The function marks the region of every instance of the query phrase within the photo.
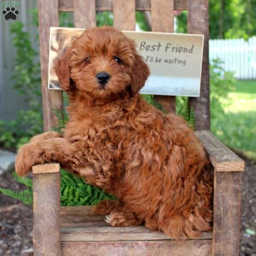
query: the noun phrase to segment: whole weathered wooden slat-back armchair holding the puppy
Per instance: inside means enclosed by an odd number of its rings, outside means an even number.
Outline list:
[[[151,11],[152,31],[173,32],[174,10],[187,10],[188,32],[204,34],[204,60],[199,98],[190,98],[197,135],[214,166],[213,232],[199,239],[175,241],[144,226],[110,227],[90,207],[60,207],[60,169],[52,163],[33,166],[35,255],[97,256],[236,256],[239,254],[241,171],[244,162],[209,131],[209,55],[207,0],[38,0],[44,130],[63,108],[62,92],[48,90],[49,27],[58,26],[58,12],[74,12],[75,26],[96,26],[96,11],[113,11],[114,26],[135,30],[135,10]],[[167,112],[174,96],[157,96]]]

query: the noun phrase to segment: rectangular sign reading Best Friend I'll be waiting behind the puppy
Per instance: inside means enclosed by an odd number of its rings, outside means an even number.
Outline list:
[[[60,89],[53,69],[54,58],[81,35],[84,29],[50,29],[49,89]],[[143,94],[192,96],[200,94],[203,35],[155,32],[123,33],[134,39],[137,51],[150,67],[151,75],[140,90]]]

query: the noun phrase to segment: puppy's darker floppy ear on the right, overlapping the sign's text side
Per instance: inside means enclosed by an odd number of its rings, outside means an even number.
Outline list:
[[[136,94],[144,86],[145,81],[150,75],[149,67],[143,57],[135,53],[134,64],[131,74],[131,92]]]

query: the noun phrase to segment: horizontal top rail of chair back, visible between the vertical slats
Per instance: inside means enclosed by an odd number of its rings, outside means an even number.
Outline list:
[[[150,0],[136,0],[135,8],[137,11],[150,11]],[[60,12],[73,12],[74,2],[73,0],[58,0],[58,6]],[[186,10],[186,0],[174,0],[175,11]],[[113,11],[113,0],[96,0],[96,11],[105,12]]]

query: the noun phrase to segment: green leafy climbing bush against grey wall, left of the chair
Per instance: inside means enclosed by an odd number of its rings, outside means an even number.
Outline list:
[[[12,80],[14,88],[26,96],[29,110],[20,110],[17,118],[4,122],[0,120],[0,143],[6,148],[18,148],[29,138],[43,132],[41,101],[41,71],[37,60],[38,52],[32,48],[28,32],[23,31],[19,21],[12,23],[13,46],[16,49]]]

